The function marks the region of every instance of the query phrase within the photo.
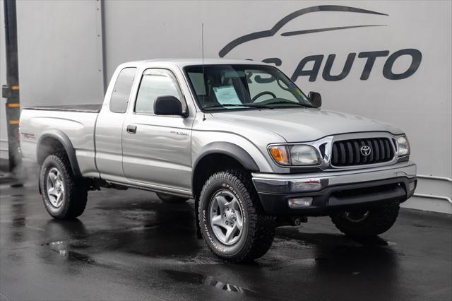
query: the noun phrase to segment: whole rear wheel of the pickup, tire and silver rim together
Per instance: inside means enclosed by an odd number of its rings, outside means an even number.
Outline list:
[[[67,220],[85,210],[88,189],[72,173],[66,153],[49,155],[40,170],[42,201],[54,218]]]

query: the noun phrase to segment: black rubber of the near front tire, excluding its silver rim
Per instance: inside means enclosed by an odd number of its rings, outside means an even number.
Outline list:
[[[222,189],[228,189],[234,194],[244,213],[244,232],[232,245],[220,242],[210,225],[210,202]],[[263,256],[270,249],[275,237],[274,218],[263,212],[251,176],[239,170],[217,172],[208,178],[199,196],[198,220],[208,248],[216,256],[230,262],[252,261]]]

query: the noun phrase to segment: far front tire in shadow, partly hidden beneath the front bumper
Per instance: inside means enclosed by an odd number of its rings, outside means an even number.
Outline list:
[[[399,208],[399,202],[393,201],[369,209],[368,216],[359,222],[345,218],[345,211],[331,215],[331,220],[345,235],[357,238],[373,237],[388,231],[396,223]]]

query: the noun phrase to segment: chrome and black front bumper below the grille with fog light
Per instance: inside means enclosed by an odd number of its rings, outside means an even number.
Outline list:
[[[252,176],[264,210],[274,216],[322,216],[338,208],[402,202],[417,184],[416,165],[410,161],[361,170]],[[289,206],[290,199],[300,198],[311,198],[311,205]]]

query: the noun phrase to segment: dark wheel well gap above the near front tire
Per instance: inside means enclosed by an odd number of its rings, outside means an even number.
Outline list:
[[[199,160],[193,172],[193,196],[199,196],[207,179],[221,170],[246,170],[246,168],[230,155],[212,153]]]

